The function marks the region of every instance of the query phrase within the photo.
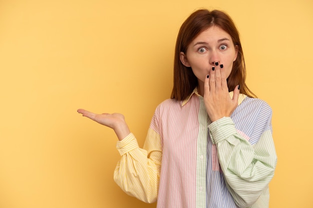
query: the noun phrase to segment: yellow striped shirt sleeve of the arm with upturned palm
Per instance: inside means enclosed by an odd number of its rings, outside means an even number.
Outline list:
[[[159,134],[149,128],[143,148],[139,148],[130,133],[117,141],[116,148],[121,159],[114,170],[114,181],[128,195],[146,203],[155,202],[162,157]]]

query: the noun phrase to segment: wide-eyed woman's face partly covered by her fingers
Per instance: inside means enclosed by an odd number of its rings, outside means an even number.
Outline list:
[[[221,70],[228,77],[236,57],[237,48],[231,36],[218,26],[211,26],[199,33],[188,45],[186,53],[180,52],[180,61],[191,67],[200,86],[204,85],[204,79],[215,62],[223,64]]]

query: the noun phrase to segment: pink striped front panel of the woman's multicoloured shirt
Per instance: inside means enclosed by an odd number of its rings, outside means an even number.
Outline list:
[[[163,148],[157,207],[195,207],[198,109],[194,95],[183,107],[168,99],[155,111],[150,127]]]

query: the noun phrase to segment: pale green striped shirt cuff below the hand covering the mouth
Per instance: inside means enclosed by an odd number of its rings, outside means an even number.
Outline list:
[[[222,117],[210,123],[208,129],[213,144],[216,144],[237,132],[230,117]]]

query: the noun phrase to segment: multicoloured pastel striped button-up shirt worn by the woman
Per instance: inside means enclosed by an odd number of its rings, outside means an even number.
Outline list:
[[[163,101],[143,148],[132,133],[117,142],[115,182],[158,208],[268,207],[271,108],[243,94],[238,103],[230,117],[211,122],[196,89],[184,101]]]

